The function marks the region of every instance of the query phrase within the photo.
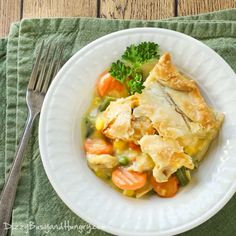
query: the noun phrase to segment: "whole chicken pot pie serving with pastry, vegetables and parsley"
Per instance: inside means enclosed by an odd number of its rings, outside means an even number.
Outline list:
[[[97,82],[85,118],[89,167],[124,195],[173,197],[223,122],[153,42],[131,45]]]

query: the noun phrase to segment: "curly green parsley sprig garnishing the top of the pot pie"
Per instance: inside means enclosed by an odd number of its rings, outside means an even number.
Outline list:
[[[121,60],[112,63],[109,73],[125,84],[130,94],[141,93],[144,88],[142,65],[159,57],[159,45],[154,42],[132,44],[126,48]]]

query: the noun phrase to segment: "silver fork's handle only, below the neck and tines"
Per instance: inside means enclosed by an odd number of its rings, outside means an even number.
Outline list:
[[[13,160],[9,175],[0,196],[0,235],[7,235],[8,224],[10,224],[12,208],[15,201],[16,189],[20,179],[20,170],[26,145],[28,143],[33,122],[37,114],[28,114],[23,136],[20,140],[15,158]]]

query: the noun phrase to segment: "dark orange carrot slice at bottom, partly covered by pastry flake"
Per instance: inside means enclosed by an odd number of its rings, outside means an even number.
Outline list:
[[[158,183],[156,179],[151,177],[151,184],[153,189],[160,197],[174,197],[179,186],[176,176],[171,176],[167,182]]]

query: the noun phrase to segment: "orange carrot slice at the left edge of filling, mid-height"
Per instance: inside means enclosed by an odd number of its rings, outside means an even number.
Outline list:
[[[103,139],[86,139],[85,151],[90,154],[112,154],[113,147]]]

